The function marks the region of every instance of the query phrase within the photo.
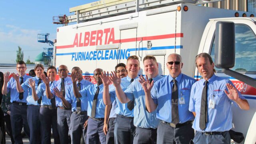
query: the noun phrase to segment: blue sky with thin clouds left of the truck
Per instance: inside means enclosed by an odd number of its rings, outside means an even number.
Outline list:
[[[0,0],[0,63],[16,63],[18,46],[24,52],[23,60],[26,62],[29,58],[34,62],[43,48],[53,48],[37,42],[37,34],[50,33],[48,39],[56,39],[56,30],[62,24],[53,24],[53,16],[73,15],[74,12],[70,13],[69,8],[96,1]]]

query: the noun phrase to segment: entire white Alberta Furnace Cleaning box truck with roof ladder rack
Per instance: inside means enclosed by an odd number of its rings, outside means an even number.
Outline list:
[[[144,74],[142,59],[153,55],[165,76],[167,56],[177,53],[184,63],[182,73],[199,80],[195,56],[206,52],[214,58],[216,22],[228,21],[235,24],[236,59],[231,69],[255,79],[255,14],[195,5],[214,1],[218,0],[101,0],[70,8],[74,15],[55,21],[65,25],[57,28],[55,66],[65,64],[69,70],[79,66],[86,80],[94,82],[94,69],[112,71],[132,55],[140,58],[139,74]],[[76,23],[67,25],[71,22]],[[216,74],[230,79],[248,100],[248,111],[232,107],[233,126],[244,134],[243,143],[255,144],[255,87],[220,69]]]

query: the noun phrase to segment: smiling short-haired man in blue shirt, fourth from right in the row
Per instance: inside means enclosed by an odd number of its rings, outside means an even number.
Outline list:
[[[124,91],[126,88],[138,78],[138,72],[140,70],[140,61],[137,56],[129,56],[127,58],[126,70],[128,76],[120,80],[118,84],[121,89]],[[112,73],[114,74],[114,73]],[[114,128],[114,141],[115,144],[133,144],[134,130],[135,126],[133,124],[134,120],[134,101],[130,101],[126,104],[122,104],[116,97],[115,86],[110,85],[110,79],[108,76],[105,77],[106,82],[104,82],[104,97],[106,98],[106,105],[110,105],[111,102],[116,99],[116,119],[115,119],[115,128]],[[104,78],[104,79],[105,79]],[[110,77],[111,78],[111,77]],[[110,98],[112,100],[110,100]]]

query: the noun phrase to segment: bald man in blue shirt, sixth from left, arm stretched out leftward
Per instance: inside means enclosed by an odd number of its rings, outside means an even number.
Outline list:
[[[106,143],[106,135],[103,132],[105,104],[102,99],[103,84],[100,78],[102,72],[101,68],[94,70],[93,77],[96,84],[89,85],[80,91],[76,86],[73,86],[76,98],[88,98],[87,114],[90,118],[87,125],[86,144]]]

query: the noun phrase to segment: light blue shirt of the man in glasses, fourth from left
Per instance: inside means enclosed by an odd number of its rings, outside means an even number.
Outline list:
[[[64,78],[64,84],[65,84],[65,97],[66,97],[66,93],[67,93],[67,90],[68,90],[68,86],[69,86],[69,85],[72,85],[72,80],[71,80],[71,78],[68,77],[68,76],[67,76],[66,78]],[[51,85],[51,87],[50,87],[50,91],[51,91],[52,94],[54,94],[53,89],[54,89],[55,87],[57,87],[58,90],[61,90],[61,78],[60,78],[59,80],[54,81],[54,82],[52,83],[52,85]],[[63,106],[61,99],[58,98],[58,96],[55,96],[55,98],[56,98],[56,106]]]

